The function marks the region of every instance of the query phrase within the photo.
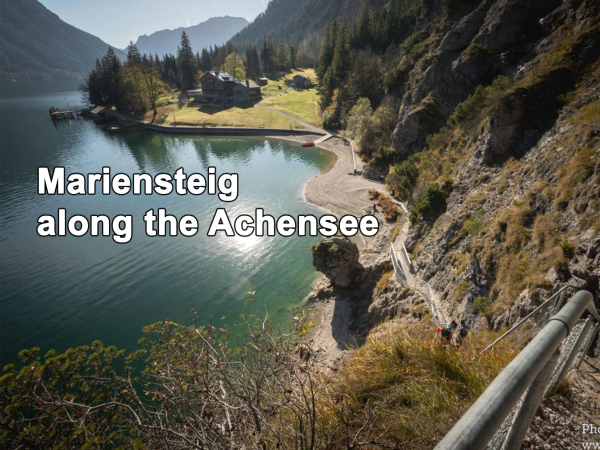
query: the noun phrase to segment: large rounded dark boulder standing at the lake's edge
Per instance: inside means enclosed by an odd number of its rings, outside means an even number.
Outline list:
[[[312,248],[313,266],[334,286],[346,287],[360,277],[358,247],[345,237],[322,238]]]

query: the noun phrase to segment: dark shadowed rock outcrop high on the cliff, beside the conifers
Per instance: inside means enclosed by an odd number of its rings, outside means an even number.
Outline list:
[[[463,17],[432,32],[430,52],[410,73],[393,134],[394,148],[404,157],[421,150],[477,86],[516,75],[548,29],[560,23],[551,15],[557,9],[567,14],[559,0],[484,0],[474,10],[466,4]]]

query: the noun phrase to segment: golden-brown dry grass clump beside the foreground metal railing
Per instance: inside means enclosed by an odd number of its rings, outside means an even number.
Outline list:
[[[508,346],[480,354],[493,333],[472,333],[457,351],[432,345],[434,332],[431,323],[388,323],[352,353],[323,415],[336,424],[331,448],[354,448],[354,436],[377,442],[362,448],[433,448],[516,354]]]

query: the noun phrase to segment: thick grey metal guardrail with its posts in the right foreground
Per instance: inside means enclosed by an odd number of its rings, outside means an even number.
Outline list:
[[[586,310],[591,317],[576,329]],[[483,450],[503,425],[502,439],[495,439],[498,445],[492,447],[518,450],[545,393],[561,382],[582,347],[589,350],[588,344],[600,329],[594,322],[600,322],[600,315],[592,294],[577,292],[492,381],[435,450]]]

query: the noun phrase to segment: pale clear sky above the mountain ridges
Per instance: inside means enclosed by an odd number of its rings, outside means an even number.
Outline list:
[[[211,17],[243,17],[249,22],[269,0],[40,0],[62,20],[125,48],[142,34],[197,25]]]

